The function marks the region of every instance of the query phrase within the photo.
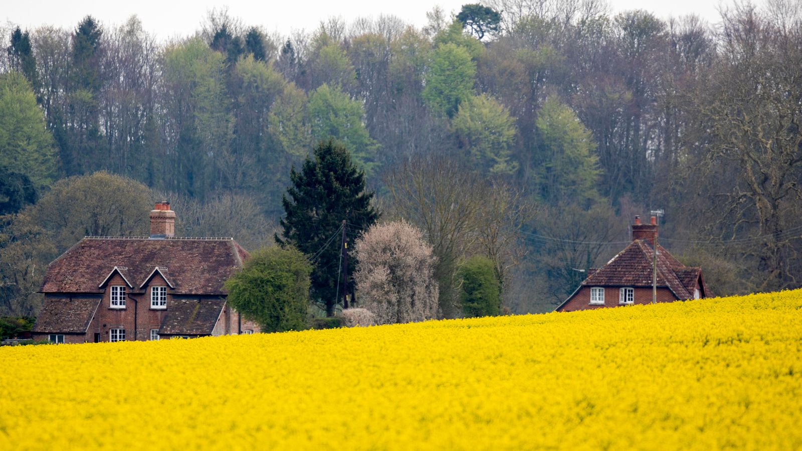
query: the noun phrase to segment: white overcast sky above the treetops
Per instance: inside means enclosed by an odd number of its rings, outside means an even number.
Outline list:
[[[245,1],[226,2],[210,0],[33,0],[14,2],[0,0],[0,20],[23,28],[55,25],[74,28],[87,14],[98,18],[104,26],[119,25],[132,14],[139,16],[145,30],[154,33],[157,39],[192,35],[199,28],[206,12],[227,6],[229,14],[241,18],[246,26],[262,26],[266,31],[278,31],[287,35],[291,30],[314,30],[321,20],[340,16],[350,22],[358,17],[377,17],[379,14],[394,14],[407,23],[423,26],[426,12],[439,5],[446,12],[459,12],[464,3],[476,0],[404,0],[376,2],[354,0],[331,2],[326,0]],[[697,14],[708,22],[718,22],[716,6],[719,0],[667,0],[638,1],[610,0],[614,12],[622,10],[648,10],[661,18],[671,15]]]

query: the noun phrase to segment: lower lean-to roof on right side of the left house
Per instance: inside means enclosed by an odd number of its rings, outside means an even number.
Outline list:
[[[173,299],[159,335],[209,335],[224,306],[223,299]]]

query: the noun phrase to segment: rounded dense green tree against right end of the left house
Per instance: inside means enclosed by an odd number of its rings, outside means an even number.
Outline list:
[[[311,271],[292,246],[262,248],[225,282],[229,303],[264,332],[306,329]]]

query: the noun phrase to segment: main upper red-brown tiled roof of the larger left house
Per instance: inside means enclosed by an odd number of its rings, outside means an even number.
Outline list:
[[[159,266],[176,295],[225,295],[247,256],[232,238],[83,238],[47,267],[41,291],[100,293],[115,266],[136,289]]]

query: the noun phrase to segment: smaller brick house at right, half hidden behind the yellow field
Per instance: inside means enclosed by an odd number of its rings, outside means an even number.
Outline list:
[[[589,270],[588,277],[557,311],[651,303],[658,225],[655,217],[651,217],[650,222],[641,224],[640,217],[636,216],[632,242],[606,265]],[[657,248],[658,303],[711,296],[702,278],[702,268],[684,266],[659,244]]]

